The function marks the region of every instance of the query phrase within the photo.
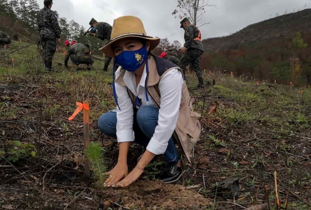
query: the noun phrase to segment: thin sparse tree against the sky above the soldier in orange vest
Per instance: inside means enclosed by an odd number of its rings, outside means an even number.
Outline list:
[[[215,4],[208,4],[209,0],[176,0],[177,8],[172,12],[175,18],[188,17],[193,25],[200,27],[209,23],[201,23],[206,7],[216,7]],[[217,8],[217,7],[216,7]]]

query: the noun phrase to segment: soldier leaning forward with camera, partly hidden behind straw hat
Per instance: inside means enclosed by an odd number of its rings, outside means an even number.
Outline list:
[[[110,36],[111,36],[111,30],[112,26],[109,23],[105,22],[97,22],[94,18],[90,21],[90,26],[96,27],[96,34],[92,34],[91,36],[95,36],[96,38],[99,38],[100,40],[107,40],[108,42],[110,41]],[[108,66],[112,60],[112,57],[109,57],[105,55],[105,66],[103,71],[108,70]]]

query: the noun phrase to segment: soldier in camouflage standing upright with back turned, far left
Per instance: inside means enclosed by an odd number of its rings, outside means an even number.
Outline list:
[[[44,8],[37,14],[38,31],[43,48],[42,58],[45,70],[52,71],[52,60],[56,51],[56,41],[60,42],[60,27],[57,16],[51,10],[53,0],[44,0]]]

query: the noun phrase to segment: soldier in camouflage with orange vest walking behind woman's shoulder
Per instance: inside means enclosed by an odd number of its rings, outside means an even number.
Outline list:
[[[201,43],[201,32],[196,26],[190,23],[188,18],[184,18],[180,22],[180,25],[180,28],[185,30],[185,44],[181,49],[183,57],[179,66],[185,74],[186,66],[190,64],[192,70],[197,74],[199,81],[198,87],[204,87],[202,69],[200,67],[200,58],[204,52],[203,45]]]

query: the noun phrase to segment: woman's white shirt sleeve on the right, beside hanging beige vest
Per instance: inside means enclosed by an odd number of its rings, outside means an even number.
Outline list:
[[[159,83],[161,95],[158,125],[147,146],[155,155],[164,154],[176,128],[181,102],[183,76],[178,69],[170,70]]]

